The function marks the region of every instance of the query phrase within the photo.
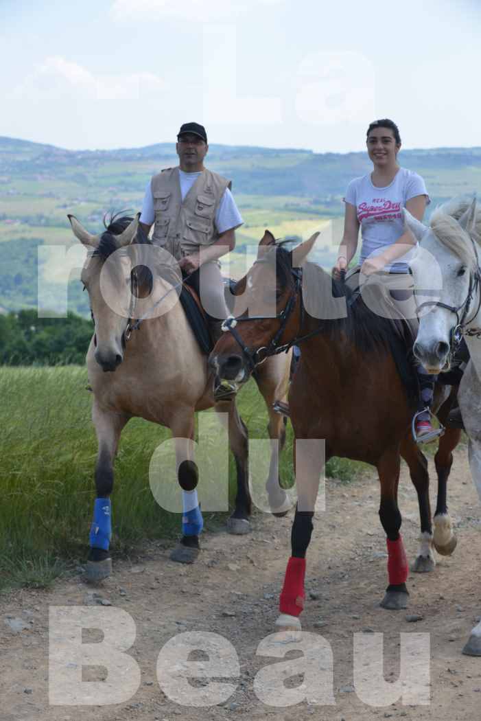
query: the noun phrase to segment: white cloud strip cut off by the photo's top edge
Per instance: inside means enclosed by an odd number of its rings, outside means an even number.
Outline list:
[[[150,20],[172,17],[196,22],[233,21],[237,14],[255,11],[261,6],[277,5],[284,0],[114,0],[111,12],[115,20],[148,17]]]

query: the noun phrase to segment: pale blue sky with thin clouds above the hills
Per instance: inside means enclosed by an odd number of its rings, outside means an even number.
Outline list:
[[[70,149],[210,141],[481,145],[481,6],[445,0],[3,0],[0,135]]]

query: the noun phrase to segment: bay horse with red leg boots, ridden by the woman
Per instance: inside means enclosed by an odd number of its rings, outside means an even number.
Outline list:
[[[379,516],[387,536],[389,585],[381,603],[385,609],[403,609],[408,601],[408,562],[397,505],[401,457],[408,464],[421,516],[421,548],[413,570],[433,569],[433,547],[441,554],[451,554],[456,545],[446,508],[446,481],[451,451],[461,432],[446,429],[436,453],[439,492],[433,533],[427,461],[410,432],[417,394],[408,393],[400,376],[403,371],[403,377],[412,377],[405,341],[398,340],[396,322],[374,313],[362,296],[354,302],[354,294],[345,283],[307,262],[315,239],[316,235],[289,252],[285,244],[276,244],[266,231],[246,287],[258,303],[263,299],[267,302],[269,294],[274,294],[274,317],[249,318],[244,314],[228,319],[225,335],[217,341],[210,357],[221,377],[243,383],[271,353],[293,343],[300,343],[302,348],[289,389],[297,446],[297,508],[292,556],[279,603],[277,626],[282,629],[300,629],[305,555],[313,531],[315,499],[320,472],[331,456],[365,461],[377,468]],[[397,362],[393,348],[397,348]],[[446,393],[437,392],[438,404],[444,400],[440,395]],[[444,402],[441,407],[441,422],[450,405]]]

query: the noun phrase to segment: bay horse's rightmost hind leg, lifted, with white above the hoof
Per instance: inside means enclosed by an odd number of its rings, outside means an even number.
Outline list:
[[[434,464],[438,474],[438,499],[436,513],[434,514],[434,548],[442,556],[450,556],[457,545],[457,538],[453,533],[453,523],[448,513],[446,503],[447,481],[453,463],[452,451],[456,448],[461,437],[459,428],[446,428],[446,432],[439,441],[439,448],[434,456]]]

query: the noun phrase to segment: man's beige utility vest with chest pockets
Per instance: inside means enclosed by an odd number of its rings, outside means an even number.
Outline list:
[[[152,242],[164,247],[176,260],[215,243],[219,237],[215,213],[230,185],[230,180],[204,169],[182,200],[179,167],[154,175],[151,188],[156,220]]]

